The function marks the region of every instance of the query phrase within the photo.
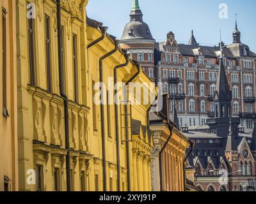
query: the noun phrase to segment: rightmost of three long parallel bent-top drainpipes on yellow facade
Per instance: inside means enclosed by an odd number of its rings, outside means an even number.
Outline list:
[[[124,112],[125,112],[125,143],[126,143],[126,163],[127,163],[127,185],[128,191],[131,191],[131,171],[130,171],[130,152],[129,152],[129,128],[128,128],[128,107],[127,107],[127,85],[132,82],[138,75],[140,75],[140,65],[138,62],[133,61],[136,64],[137,72],[126,83],[124,87]]]

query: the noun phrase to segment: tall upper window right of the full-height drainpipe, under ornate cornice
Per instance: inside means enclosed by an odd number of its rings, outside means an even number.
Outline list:
[[[74,68],[74,101],[78,102],[78,85],[77,85],[77,36],[73,34],[73,68]]]

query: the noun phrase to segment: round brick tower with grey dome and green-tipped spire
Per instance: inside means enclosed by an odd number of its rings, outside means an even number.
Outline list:
[[[126,49],[132,59],[140,62],[148,77],[154,80],[155,40],[148,25],[143,22],[139,0],[133,0],[130,19],[130,22],[125,25],[120,47]]]

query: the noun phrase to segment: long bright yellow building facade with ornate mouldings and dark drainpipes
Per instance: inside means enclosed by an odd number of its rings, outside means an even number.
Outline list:
[[[86,17],[87,4],[16,1],[20,191],[151,190],[150,103],[115,106],[108,88],[116,80],[128,85],[120,88],[126,93],[129,82],[151,81]],[[99,82],[107,87],[104,105],[93,102]],[[123,95],[123,102],[136,98]]]

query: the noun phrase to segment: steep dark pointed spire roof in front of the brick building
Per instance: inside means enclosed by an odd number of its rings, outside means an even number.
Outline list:
[[[222,57],[220,59],[220,70],[218,73],[215,99],[218,99],[218,100],[231,100],[232,99],[232,92],[229,89],[228,79],[227,79],[225,66],[224,66]]]

